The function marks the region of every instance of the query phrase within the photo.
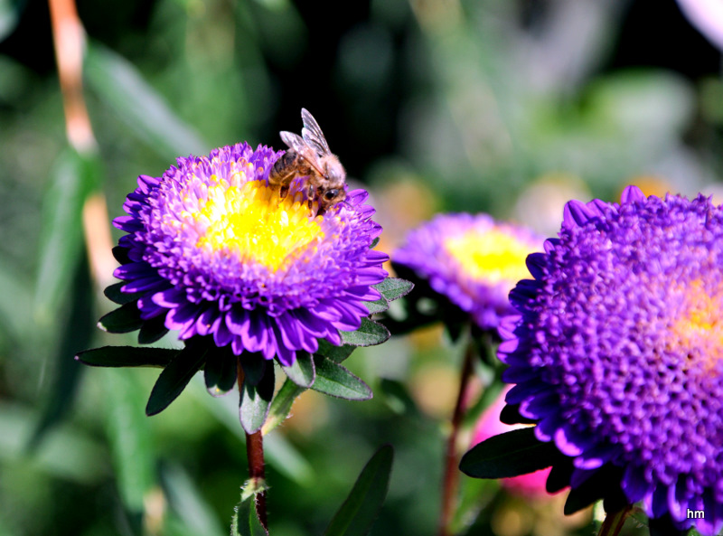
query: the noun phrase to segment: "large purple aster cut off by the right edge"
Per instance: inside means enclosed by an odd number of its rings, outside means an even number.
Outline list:
[[[723,208],[633,186],[569,202],[528,258],[500,326],[506,400],[569,456],[573,492],[616,475],[653,519],[723,526],[721,265]]]

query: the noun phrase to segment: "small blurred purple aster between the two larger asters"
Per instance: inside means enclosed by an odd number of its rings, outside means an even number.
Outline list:
[[[525,258],[541,249],[529,230],[498,223],[486,214],[442,214],[408,234],[393,255],[483,329],[513,312],[508,294],[530,277]]]

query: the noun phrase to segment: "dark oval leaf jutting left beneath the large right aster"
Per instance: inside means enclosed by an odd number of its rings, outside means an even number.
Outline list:
[[[522,428],[475,445],[459,468],[473,478],[507,478],[549,467],[559,456],[554,443],[538,440],[534,428]]]

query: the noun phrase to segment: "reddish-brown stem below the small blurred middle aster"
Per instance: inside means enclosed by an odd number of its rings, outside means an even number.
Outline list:
[[[465,402],[469,381],[472,378],[474,342],[470,341],[465,350],[465,360],[459,377],[459,392],[455,410],[452,413],[452,429],[446,442],[445,473],[442,480],[442,512],[439,517],[439,536],[450,536],[452,519],[456,507],[457,484],[459,482],[459,459],[457,456],[457,437],[462,418],[465,416]]]

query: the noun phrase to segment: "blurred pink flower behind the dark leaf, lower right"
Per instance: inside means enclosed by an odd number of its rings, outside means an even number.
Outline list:
[[[512,386],[505,387],[500,393],[500,396],[497,397],[497,400],[494,400],[493,404],[484,411],[477,421],[470,447],[474,447],[477,443],[482,443],[489,437],[517,428],[525,428],[523,424],[509,425],[500,422],[500,413],[502,413],[502,408],[504,408],[504,397],[511,388]],[[540,471],[530,473],[529,475],[502,478],[500,484],[511,494],[536,498],[548,497],[550,494],[545,490],[545,482],[548,479],[548,475],[549,467],[547,469],[540,469]]]

